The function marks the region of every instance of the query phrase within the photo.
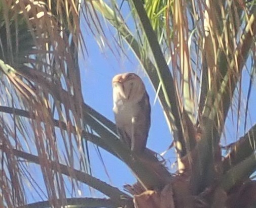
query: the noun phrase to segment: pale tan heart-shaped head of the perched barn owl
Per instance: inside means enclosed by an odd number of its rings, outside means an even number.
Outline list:
[[[145,86],[140,77],[134,73],[116,75],[112,80],[114,101],[139,101],[144,93]]]

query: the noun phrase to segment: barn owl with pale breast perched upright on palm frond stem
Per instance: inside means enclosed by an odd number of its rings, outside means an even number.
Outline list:
[[[121,140],[137,153],[145,149],[150,129],[150,102],[142,80],[134,73],[116,75],[113,111]]]

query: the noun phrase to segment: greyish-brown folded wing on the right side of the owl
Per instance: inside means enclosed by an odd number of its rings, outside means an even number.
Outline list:
[[[151,107],[149,95],[144,93],[138,102],[137,115],[134,117],[133,136],[131,138],[131,150],[143,152],[146,147],[151,125]]]

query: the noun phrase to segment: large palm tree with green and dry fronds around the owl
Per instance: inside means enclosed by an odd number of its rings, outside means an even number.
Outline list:
[[[125,21],[125,6],[133,22]],[[255,1],[1,0],[0,14],[1,207],[256,204],[256,126],[246,124],[255,84]],[[173,135],[175,173],[157,157],[131,152],[115,124],[84,102],[81,19],[113,49],[102,26],[107,21],[120,51],[125,42],[139,60]],[[244,123],[239,139],[227,138],[228,116],[237,133]],[[234,141],[226,152],[225,138]],[[88,142],[135,174],[138,182],[126,186],[130,194],[92,176]],[[81,184],[107,198],[67,193]],[[38,196],[32,204],[29,190]]]

